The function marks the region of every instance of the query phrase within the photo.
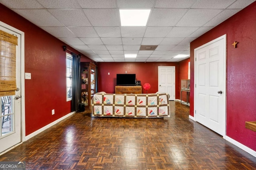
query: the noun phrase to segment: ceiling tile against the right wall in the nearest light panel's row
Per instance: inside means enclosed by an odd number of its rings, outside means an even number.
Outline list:
[[[227,18],[230,18],[232,15],[236,14],[238,11],[239,11],[238,9],[224,10],[220,14],[212,18],[212,20],[204,24],[204,27],[214,27],[222,23],[223,21],[227,20]]]

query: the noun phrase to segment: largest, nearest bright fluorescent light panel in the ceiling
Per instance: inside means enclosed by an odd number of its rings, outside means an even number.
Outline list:
[[[120,9],[121,26],[146,26],[150,10]]]

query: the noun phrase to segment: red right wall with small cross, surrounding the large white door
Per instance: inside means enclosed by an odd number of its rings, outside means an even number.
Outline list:
[[[194,49],[227,35],[226,135],[256,150],[256,132],[245,128],[256,121],[256,2],[190,43],[190,115],[194,116]],[[232,43],[237,41],[237,48]]]

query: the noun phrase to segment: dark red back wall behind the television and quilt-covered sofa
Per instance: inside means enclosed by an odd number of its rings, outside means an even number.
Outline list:
[[[151,88],[148,93],[158,92],[158,66],[175,66],[175,81],[179,80],[178,63],[98,63],[98,92],[115,93],[116,74],[136,74],[136,80],[141,81],[141,85],[149,83]],[[110,75],[108,75],[108,72]],[[178,89],[178,84],[175,86]],[[142,93],[146,90],[142,88]],[[179,92],[176,90],[175,96]]]

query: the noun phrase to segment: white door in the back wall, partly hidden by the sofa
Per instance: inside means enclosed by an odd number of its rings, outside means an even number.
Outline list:
[[[175,100],[175,66],[158,66],[158,92],[168,93]]]

